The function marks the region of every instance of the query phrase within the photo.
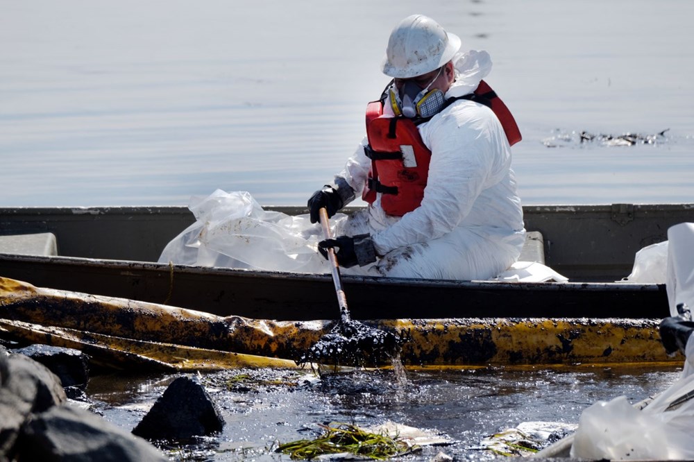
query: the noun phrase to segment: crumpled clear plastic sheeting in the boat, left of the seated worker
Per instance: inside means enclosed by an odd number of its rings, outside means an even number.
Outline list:
[[[245,191],[217,189],[189,203],[196,222],[164,248],[160,263],[221,266],[264,271],[326,273],[328,262],[318,253],[322,229],[309,216],[268,212]],[[337,214],[335,225],[346,218]]]

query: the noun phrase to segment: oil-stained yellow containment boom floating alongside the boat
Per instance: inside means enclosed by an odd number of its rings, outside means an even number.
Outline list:
[[[659,321],[450,318],[364,323],[403,339],[400,359],[406,367],[681,363],[683,357],[668,357],[661,345]],[[78,348],[118,367],[296,367],[294,359],[330,332],[334,322],[221,317],[0,277],[0,336]]]

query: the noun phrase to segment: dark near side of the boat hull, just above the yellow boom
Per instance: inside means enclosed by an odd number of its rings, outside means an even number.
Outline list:
[[[36,286],[276,320],[339,316],[330,275],[4,255],[0,275]],[[344,276],[355,319],[663,318],[664,284],[431,281]]]

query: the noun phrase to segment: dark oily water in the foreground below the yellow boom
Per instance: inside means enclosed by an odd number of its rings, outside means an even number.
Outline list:
[[[246,377],[246,378],[244,378]],[[480,441],[521,422],[577,423],[598,400],[625,395],[630,402],[667,388],[678,368],[564,367],[477,368],[408,372],[405,388],[391,371],[339,373],[307,385],[300,375],[281,370],[237,370],[203,376],[226,425],[172,454],[205,461],[289,461],[276,454],[279,443],[312,439],[319,424],[354,423],[361,427],[387,421],[430,429],[452,445],[424,447],[405,460],[429,460],[439,450],[457,460],[489,460]],[[94,377],[87,392],[97,409],[130,430],[172,377],[151,379]]]

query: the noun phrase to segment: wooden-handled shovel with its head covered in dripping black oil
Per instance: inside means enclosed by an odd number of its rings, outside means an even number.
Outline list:
[[[332,235],[328,221],[328,210],[322,207],[319,214],[325,239],[330,239]],[[322,336],[297,362],[365,366],[367,364],[377,365],[393,358],[400,350],[400,343],[396,336],[392,332],[369,327],[350,317],[347,298],[342,289],[335,249],[328,248],[328,261],[332,272],[332,282],[335,283],[340,318],[337,325],[328,334]]]

